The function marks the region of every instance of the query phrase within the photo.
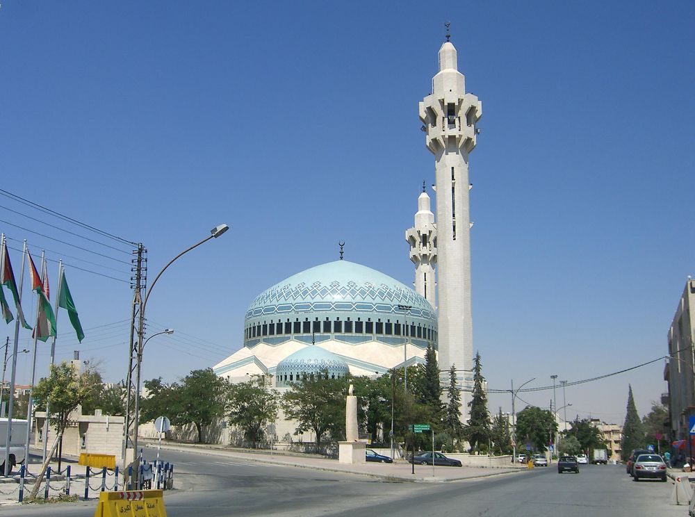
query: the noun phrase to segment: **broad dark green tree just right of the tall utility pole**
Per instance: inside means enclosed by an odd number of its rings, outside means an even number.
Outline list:
[[[172,425],[193,424],[202,443],[202,427],[224,415],[225,386],[211,368],[191,371],[181,384],[165,384],[161,377],[145,381],[149,396],[140,402],[140,422],[167,416]]]

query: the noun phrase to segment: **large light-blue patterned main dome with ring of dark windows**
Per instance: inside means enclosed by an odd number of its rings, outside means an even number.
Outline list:
[[[244,344],[279,345],[290,338],[307,344],[327,338],[357,343],[367,335],[391,345],[410,336],[426,347],[436,343],[436,326],[432,305],[414,289],[364,265],[335,261],[294,274],[258,295],[246,312]]]

